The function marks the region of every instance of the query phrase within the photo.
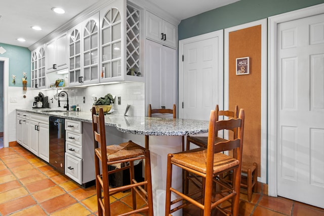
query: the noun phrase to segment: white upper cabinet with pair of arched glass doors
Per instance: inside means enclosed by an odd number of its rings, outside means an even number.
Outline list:
[[[69,85],[99,82],[99,13],[68,31]]]

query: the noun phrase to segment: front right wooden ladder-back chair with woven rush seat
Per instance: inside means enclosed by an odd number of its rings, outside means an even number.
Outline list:
[[[191,203],[201,209],[200,215],[211,215],[213,208],[219,209],[226,215],[238,215],[244,118],[244,109],[240,109],[238,118],[216,121],[216,111],[212,110],[207,148],[168,154],[166,216]],[[237,139],[229,139],[216,143],[216,131],[223,129],[237,129]],[[221,153],[222,151],[228,150],[233,150],[232,157]],[[172,188],[173,165],[202,177],[203,188],[190,191],[187,194]],[[233,171],[233,184],[228,184],[223,179],[218,178],[220,174],[230,170]],[[213,194],[213,182],[221,185],[223,190],[217,191],[217,194]],[[178,198],[171,200],[171,193],[176,194]],[[222,208],[223,205],[221,205],[227,200],[231,200],[230,212]],[[178,206],[173,206],[171,209],[171,205],[176,203]],[[227,205],[225,206],[227,207]]]

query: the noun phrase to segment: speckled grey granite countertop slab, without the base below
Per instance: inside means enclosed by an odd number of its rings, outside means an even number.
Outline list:
[[[16,110],[92,123],[90,111],[57,111],[51,109],[32,108]],[[183,136],[207,133],[209,121],[107,114],[105,115],[105,125],[114,126],[118,129],[118,131],[129,134],[149,136]]]

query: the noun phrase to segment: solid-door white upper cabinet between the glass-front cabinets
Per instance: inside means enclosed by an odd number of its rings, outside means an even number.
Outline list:
[[[67,68],[67,33],[63,33],[46,44],[47,72]]]

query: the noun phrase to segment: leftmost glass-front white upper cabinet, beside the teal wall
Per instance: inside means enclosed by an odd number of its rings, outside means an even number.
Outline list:
[[[46,87],[45,46],[31,52],[31,88]]]

